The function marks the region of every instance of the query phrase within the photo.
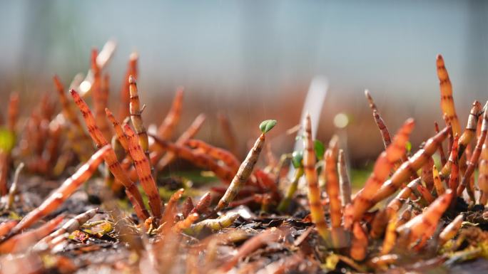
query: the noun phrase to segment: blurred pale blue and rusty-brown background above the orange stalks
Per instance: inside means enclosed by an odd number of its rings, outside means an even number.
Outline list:
[[[356,167],[382,150],[365,89],[392,134],[417,120],[413,147],[434,133],[434,120],[444,124],[437,53],[463,127],[472,101],[488,99],[487,1],[1,1],[0,36],[2,108],[11,91],[24,114],[43,93],[56,99],[52,76],[68,85],[88,70],[91,48],[113,39],[111,107],[136,51],[144,120],[158,125],[183,85],[178,130],[205,112],[198,137],[224,144],[223,113],[243,153],[265,119],[278,120],[273,152],[290,152],[295,136],[285,132],[300,122],[317,75],[329,83],[317,136],[328,142],[335,115],[347,115],[341,134]]]

